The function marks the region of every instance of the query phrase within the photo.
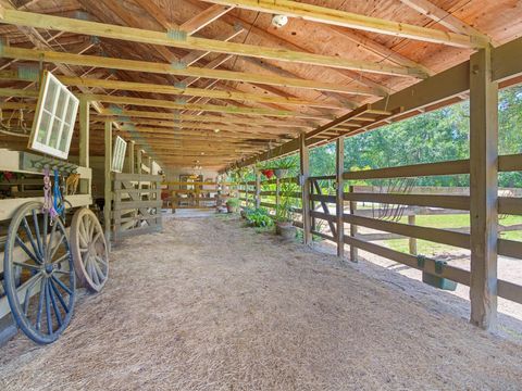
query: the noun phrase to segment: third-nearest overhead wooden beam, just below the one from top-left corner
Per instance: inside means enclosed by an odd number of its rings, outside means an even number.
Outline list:
[[[323,83],[315,80],[307,80],[300,78],[283,77],[277,75],[264,75],[256,73],[210,70],[198,66],[183,66],[176,64],[158,63],[150,61],[124,60],[108,56],[72,54],[64,52],[55,52],[49,50],[36,50],[14,48],[2,46],[0,54],[7,59],[26,60],[35,62],[50,62],[58,64],[103,67],[108,70],[122,70],[139,73],[156,73],[163,75],[177,75],[196,78],[210,78],[229,81],[243,81],[261,85],[271,85],[279,87],[295,87],[313,89],[319,91],[331,91],[349,94],[368,94],[374,96],[376,92],[372,88],[363,86],[343,86],[339,84]]]

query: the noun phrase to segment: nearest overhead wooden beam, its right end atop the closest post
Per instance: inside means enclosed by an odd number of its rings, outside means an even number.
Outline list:
[[[289,0],[204,0],[214,4],[235,5],[251,11],[287,15],[306,21],[324,23],[364,31],[417,39],[425,42],[443,43],[458,48],[483,48],[488,40],[483,36],[472,36],[442,31],[434,28],[391,22],[324,7]]]

